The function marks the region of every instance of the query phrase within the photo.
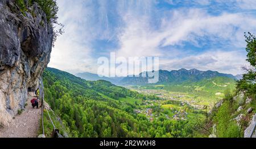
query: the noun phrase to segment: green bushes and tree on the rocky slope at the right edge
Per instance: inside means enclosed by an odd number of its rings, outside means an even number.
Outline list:
[[[243,78],[237,81],[236,86],[236,101],[232,100],[233,96],[228,90],[225,91],[224,104],[217,110],[214,111],[211,117],[213,117],[214,122],[217,123],[217,135],[218,137],[242,137],[243,130],[248,126],[248,120],[246,118],[241,119],[240,126],[233,120],[238,114],[246,113],[245,110],[237,112],[239,106],[243,106],[243,109],[248,109],[249,107],[255,108],[255,97],[256,97],[256,40],[255,36],[248,32],[245,34],[246,38],[246,51],[247,51],[247,61],[251,64],[252,68],[244,68],[247,71],[243,74]],[[241,96],[242,92],[245,93],[245,97]],[[250,104],[245,105],[246,97],[253,98]],[[247,115],[246,115],[247,117]]]

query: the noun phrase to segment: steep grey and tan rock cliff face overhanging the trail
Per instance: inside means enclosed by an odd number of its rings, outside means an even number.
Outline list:
[[[21,13],[14,1],[0,1],[0,125],[24,108],[28,90],[43,89],[52,39],[52,25],[36,4]]]

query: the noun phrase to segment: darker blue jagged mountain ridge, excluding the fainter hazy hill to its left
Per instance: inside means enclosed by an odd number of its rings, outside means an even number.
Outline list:
[[[232,74],[219,73],[217,71],[199,71],[197,69],[179,69],[177,71],[163,71],[159,70],[159,81],[157,84],[166,84],[166,83],[179,83],[185,81],[200,81],[205,78],[213,77],[228,77],[237,80]],[[142,85],[148,83],[147,77],[142,77],[142,73],[139,74],[139,77],[125,77],[119,84],[123,85]]]

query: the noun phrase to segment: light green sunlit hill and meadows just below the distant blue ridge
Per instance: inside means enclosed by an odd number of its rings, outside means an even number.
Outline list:
[[[186,97],[180,98],[181,100],[188,99],[195,101],[199,105],[211,105],[224,98],[225,90],[230,90],[230,94],[233,94],[232,90],[236,89],[236,80],[229,77],[213,77],[197,82],[186,81],[179,84],[143,85],[133,86],[132,88],[137,90],[165,90],[173,94],[185,95]]]

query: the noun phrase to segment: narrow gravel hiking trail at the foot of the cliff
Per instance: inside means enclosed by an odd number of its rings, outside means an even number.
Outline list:
[[[40,126],[40,109],[33,109],[28,96],[26,109],[20,115],[16,115],[9,127],[0,127],[0,138],[36,138]]]

